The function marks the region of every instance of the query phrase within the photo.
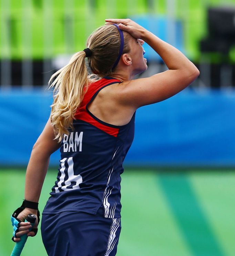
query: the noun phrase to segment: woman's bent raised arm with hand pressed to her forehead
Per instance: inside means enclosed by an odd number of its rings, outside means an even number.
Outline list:
[[[130,80],[121,84],[121,104],[128,104],[134,108],[163,101],[190,85],[199,75],[196,66],[179,50],[164,42],[148,30],[130,19],[106,19],[108,23],[118,23],[120,29],[128,32],[136,42],[149,44],[158,53],[169,70],[155,74],[148,78]],[[138,39],[139,38],[139,39]],[[141,39],[141,40],[140,40]],[[136,54],[135,54],[136,55]],[[134,63],[135,55],[129,54]],[[125,58],[123,55],[122,58]]]

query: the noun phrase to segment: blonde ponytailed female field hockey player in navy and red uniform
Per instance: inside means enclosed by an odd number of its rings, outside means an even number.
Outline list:
[[[48,255],[116,254],[120,174],[134,138],[135,111],[177,94],[199,75],[179,50],[134,21],[105,21],[88,38],[88,48],[74,54],[50,79],[51,115],[33,146],[25,200],[12,215],[21,221],[29,213],[38,215],[49,158],[60,148],[57,181],[42,212],[41,233]],[[144,42],[162,57],[168,70],[133,80],[147,69]],[[28,222],[20,222],[13,240],[19,241],[23,234],[35,236],[37,223],[29,232]]]

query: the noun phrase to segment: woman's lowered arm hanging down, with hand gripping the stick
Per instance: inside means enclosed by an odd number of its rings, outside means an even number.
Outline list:
[[[30,156],[29,164],[25,177],[25,192],[24,198],[27,201],[38,202],[41,194],[42,185],[45,179],[45,175],[48,170],[50,155],[59,148],[59,143],[54,140],[54,131],[51,126],[50,118],[44,127],[41,135],[33,146]],[[25,208],[17,216],[18,219],[24,221],[28,214],[33,213],[37,216],[37,210]],[[17,232],[17,238],[14,241],[20,241],[20,236],[27,234],[28,236],[34,236],[34,232],[29,232],[29,225],[27,222],[21,222],[19,232]],[[34,226],[37,228],[37,222]]]

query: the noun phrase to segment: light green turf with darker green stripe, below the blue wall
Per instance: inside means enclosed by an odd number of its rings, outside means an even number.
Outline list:
[[[24,197],[24,171],[1,170],[0,176],[0,255],[5,256],[14,246],[10,215]],[[47,174],[41,210],[56,176],[56,169]],[[126,169],[117,256],[234,256],[234,184],[234,171]],[[40,232],[28,239],[22,256],[28,255],[47,255]]]

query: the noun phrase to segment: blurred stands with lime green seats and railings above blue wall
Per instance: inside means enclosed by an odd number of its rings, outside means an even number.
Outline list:
[[[182,50],[201,71],[192,87],[235,84],[234,0],[1,0],[0,4],[0,84],[5,89],[46,85],[52,72],[82,50],[88,35],[107,17],[133,18]],[[164,70],[160,58],[146,48],[149,70],[142,76]]]

